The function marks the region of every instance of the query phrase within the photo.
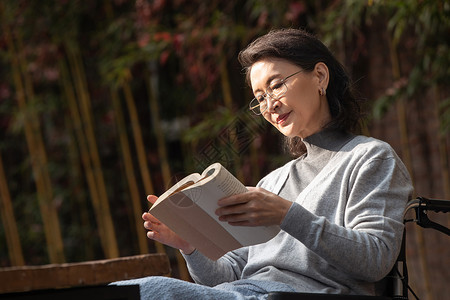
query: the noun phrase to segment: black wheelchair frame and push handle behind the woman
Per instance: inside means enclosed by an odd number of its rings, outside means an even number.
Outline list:
[[[414,219],[406,219],[409,211],[415,211]],[[415,222],[423,228],[432,228],[450,236],[450,229],[431,221],[427,212],[450,211],[450,200],[428,199],[417,197],[406,205],[403,214],[403,223]],[[386,290],[383,296],[360,296],[360,295],[332,295],[332,294],[315,294],[300,292],[272,292],[268,295],[268,300],[408,300],[408,291],[419,299],[408,284],[408,269],[406,266],[406,229],[403,231],[403,240],[400,254],[394,264],[394,267],[385,277]]]

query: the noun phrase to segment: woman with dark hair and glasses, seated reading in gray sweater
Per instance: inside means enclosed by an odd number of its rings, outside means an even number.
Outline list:
[[[255,95],[250,109],[286,137],[298,158],[248,193],[221,199],[216,213],[230,224],[282,230],[267,243],[211,261],[144,213],[147,236],[180,249],[199,284],[159,277],[134,281],[142,298],[381,294],[412,193],[406,168],[386,143],[351,133],[360,119],[358,102],[343,67],[315,37],[295,29],[272,31],[239,60]]]

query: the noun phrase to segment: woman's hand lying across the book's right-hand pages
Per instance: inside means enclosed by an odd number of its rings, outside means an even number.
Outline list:
[[[219,220],[239,226],[280,225],[292,202],[263,188],[247,189],[246,193],[219,200]]]

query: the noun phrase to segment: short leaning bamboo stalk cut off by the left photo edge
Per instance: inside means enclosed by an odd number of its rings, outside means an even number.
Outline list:
[[[25,260],[22,253],[22,245],[20,244],[19,231],[17,230],[16,219],[14,218],[14,210],[11,204],[11,195],[9,193],[8,184],[3,168],[3,160],[0,156],[0,213],[2,216],[3,227],[5,228],[6,245],[8,247],[11,265],[23,266]]]

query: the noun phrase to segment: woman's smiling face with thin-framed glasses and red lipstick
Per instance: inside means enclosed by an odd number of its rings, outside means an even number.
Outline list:
[[[255,97],[266,92],[274,80],[301,70],[283,59],[264,59],[254,63],[250,70],[250,82]],[[287,137],[305,138],[318,131],[331,120],[326,96],[319,94],[328,85],[328,68],[316,64],[312,72],[300,72],[286,80],[287,91],[277,100],[266,97],[264,118]]]

